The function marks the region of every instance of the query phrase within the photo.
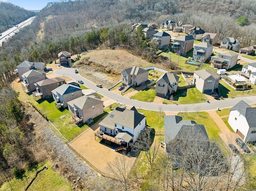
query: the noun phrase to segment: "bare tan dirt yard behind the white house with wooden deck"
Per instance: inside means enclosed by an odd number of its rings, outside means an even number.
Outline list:
[[[95,138],[94,133],[99,130],[98,123],[92,125],[90,128],[82,132],[78,137],[74,138],[69,145],[74,148],[81,156],[88,160],[94,167],[103,173],[111,174],[108,169],[108,164],[113,163],[117,156],[121,154],[115,150],[100,144]],[[96,139],[96,140],[95,140]],[[128,158],[130,162],[134,163],[136,158]]]

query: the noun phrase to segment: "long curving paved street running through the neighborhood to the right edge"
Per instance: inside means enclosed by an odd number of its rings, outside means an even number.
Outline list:
[[[208,111],[208,110],[216,110],[217,107],[220,109],[223,108],[230,108],[238,103],[240,100],[244,100],[248,104],[256,104],[256,96],[248,96],[242,98],[228,98],[224,100],[216,100],[210,103],[199,103],[199,104],[180,104],[180,105],[166,105],[166,104],[152,104],[148,102],[142,102],[138,100],[133,100],[130,98],[126,98],[121,95],[117,95],[112,91],[108,91],[108,89],[96,87],[96,84],[84,77],[80,76],[79,74],[75,73],[75,69],[73,68],[62,68],[54,71],[56,75],[64,75],[68,76],[76,81],[82,80],[84,81],[84,85],[94,91],[97,91],[99,94],[114,100],[116,102],[126,104],[128,106],[136,106],[136,108],[146,109],[146,110],[154,110],[159,111],[159,108],[162,108],[164,112],[184,112],[187,110],[190,111]]]

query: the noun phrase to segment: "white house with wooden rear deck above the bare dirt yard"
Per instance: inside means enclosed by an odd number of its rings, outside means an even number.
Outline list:
[[[99,125],[106,138],[111,137],[116,143],[128,147],[128,144],[134,144],[144,130],[146,116],[138,113],[134,106],[131,109],[117,107]]]

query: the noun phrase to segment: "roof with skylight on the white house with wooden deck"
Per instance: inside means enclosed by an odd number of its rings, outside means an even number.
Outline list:
[[[134,111],[134,109],[129,110],[129,109],[117,107],[110,114],[108,114],[108,116],[106,116],[99,123],[99,125],[113,129],[114,124],[116,123],[122,126],[126,126],[128,128],[134,129],[145,117],[146,116],[138,113],[137,110]]]

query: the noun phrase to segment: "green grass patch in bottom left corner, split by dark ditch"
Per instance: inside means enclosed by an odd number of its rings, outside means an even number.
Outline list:
[[[44,165],[48,169],[38,173],[34,182],[28,188],[28,191],[47,190],[47,191],[71,191],[68,182],[64,180],[58,173],[51,169],[50,162],[42,162],[28,169],[20,178],[14,178],[9,182],[4,183],[0,191],[21,191],[25,190],[31,180],[35,177],[36,171],[41,170]]]

